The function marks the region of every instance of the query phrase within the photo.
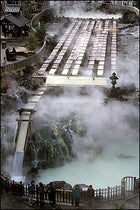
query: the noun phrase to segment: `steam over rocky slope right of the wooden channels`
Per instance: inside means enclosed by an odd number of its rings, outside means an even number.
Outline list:
[[[117,58],[119,85],[135,85],[139,88],[139,27],[121,29],[120,52]],[[129,43],[129,44],[128,44]]]

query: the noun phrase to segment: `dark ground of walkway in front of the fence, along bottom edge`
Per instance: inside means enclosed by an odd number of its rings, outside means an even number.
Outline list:
[[[139,209],[139,196],[137,195],[133,199],[130,200],[118,200],[114,201],[115,204],[121,206],[122,204],[125,204],[125,209]],[[18,196],[13,196],[10,193],[6,193],[2,190],[1,193],[1,209],[41,209],[40,206],[38,206],[36,203],[33,204],[32,207],[28,206],[28,199],[27,198],[20,198]],[[100,202],[100,203],[94,203],[93,207],[88,208],[87,206],[80,204],[79,208],[76,208],[74,206],[71,206],[70,204],[62,204],[57,203],[55,207],[51,207],[48,203],[45,203],[44,208],[42,209],[116,209],[113,202]]]

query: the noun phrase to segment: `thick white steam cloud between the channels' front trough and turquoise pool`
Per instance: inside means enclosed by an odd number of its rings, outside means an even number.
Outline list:
[[[90,88],[88,95],[84,96],[79,95],[78,89],[77,92],[73,88],[71,90],[65,89],[64,94],[59,97],[42,98],[35,119],[47,121],[47,116],[50,116],[57,120],[76,113],[77,118],[82,119],[88,129],[87,141],[94,138],[104,147],[108,147],[108,144],[120,144],[122,140],[128,142],[128,136],[129,139],[138,139],[138,109],[133,104],[114,101],[105,106],[105,96],[101,90]],[[132,116],[135,128],[131,128],[131,123],[127,122],[127,118]],[[106,136],[105,141],[103,134]]]

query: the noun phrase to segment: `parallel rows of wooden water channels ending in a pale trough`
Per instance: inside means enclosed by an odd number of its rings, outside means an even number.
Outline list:
[[[33,77],[45,78],[46,86],[108,85],[108,72],[116,72],[116,34],[115,19],[73,19]]]

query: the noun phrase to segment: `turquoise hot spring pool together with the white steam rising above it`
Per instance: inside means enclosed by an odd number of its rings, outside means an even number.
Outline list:
[[[80,91],[75,87],[64,88],[59,96],[46,94],[39,101],[34,116],[36,131],[48,121],[58,124],[60,119],[75,116],[76,123],[80,121],[86,133],[79,136],[72,132],[75,158],[62,166],[40,169],[35,181],[47,184],[64,180],[71,185],[92,184],[97,189],[120,185],[124,176],[138,177],[138,107],[116,100],[105,105],[103,92],[95,88],[83,95]],[[71,120],[65,123],[68,122]],[[59,126],[66,127],[65,123]],[[41,133],[39,138],[43,138]],[[98,147],[100,152],[96,152]],[[25,182],[31,179],[26,174],[28,167],[23,169]]]

